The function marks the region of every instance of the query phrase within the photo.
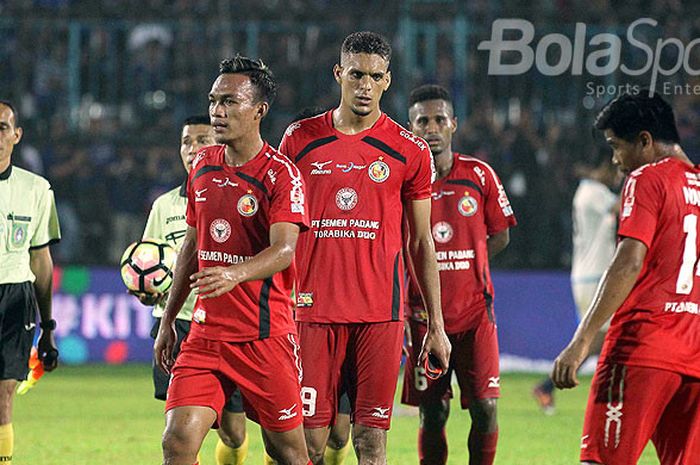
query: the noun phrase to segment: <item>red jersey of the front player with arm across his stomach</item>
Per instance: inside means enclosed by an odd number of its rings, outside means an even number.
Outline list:
[[[270,225],[308,227],[304,184],[296,166],[265,144],[240,167],[226,164],[225,146],[197,154],[187,187],[187,224],[197,228],[199,269],[242,263],[270,246]],[[229,342],[294,333],[295,266],[241,283],[213,299],[197,299],[191,334]]]

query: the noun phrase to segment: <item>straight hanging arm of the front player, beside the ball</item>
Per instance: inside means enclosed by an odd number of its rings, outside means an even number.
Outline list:
[[[190,294],[190,275],[197,271],[197,229],[187,226],[182,248],[177,255],[177,270],[174,271],[173,285],[168,294],[158,336],[153,344],[154,360],[166,373],[175,363],[173,349],[177,342],[175,318]]]

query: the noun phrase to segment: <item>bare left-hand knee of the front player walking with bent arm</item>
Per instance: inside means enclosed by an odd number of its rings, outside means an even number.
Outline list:
[[[216,422],[210,407],[174,407],[165,414],[163,465],[192,465],[209,428]]]

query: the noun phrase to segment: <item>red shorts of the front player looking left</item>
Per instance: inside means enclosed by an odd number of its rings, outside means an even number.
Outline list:
[[[210,407],[217,422],[238,387],[246,415],[269,431],[285,432],[302,423],[301,360],[296,336],[250,342],[188,337],[172,370],[165,410]]]

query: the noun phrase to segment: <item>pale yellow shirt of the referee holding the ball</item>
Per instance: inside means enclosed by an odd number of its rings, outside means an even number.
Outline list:
[[[158,197],[151,207],[148,215],[146,230],[143,232],[144,239],[157,239],[172,246],[176,252],[180,251],[182,241],[187,233],[187,223],[185,213],[187,211],[187,194],[185,185],[177,187]],[[194,308],[195,295],[190,292],[187,300],[182,305],[177,318],[190,321],[192,319],[192,309]],[[163,317],[165,302],[153,307],[155,318]]]

